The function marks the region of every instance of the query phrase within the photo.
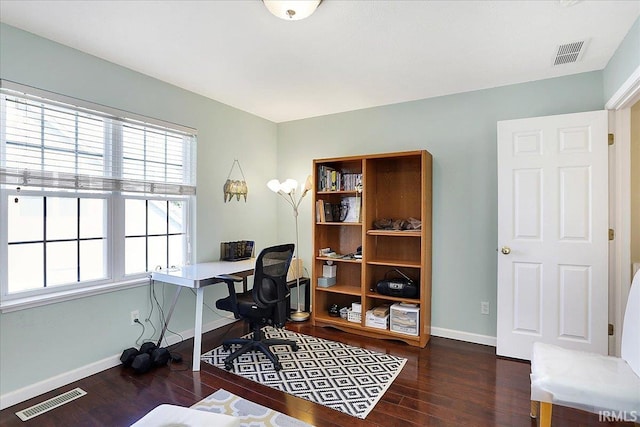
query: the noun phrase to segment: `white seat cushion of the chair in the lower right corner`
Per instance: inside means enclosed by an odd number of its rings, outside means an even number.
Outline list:
[[[640,377],[624,359],[536,342],[531,400],[596,413],[640,413]]]

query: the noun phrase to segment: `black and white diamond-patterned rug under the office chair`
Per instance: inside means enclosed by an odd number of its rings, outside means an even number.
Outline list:
[[[273,346],[282,370],[276,371],[262,353],[245,353],[233,363],[236,375],[302,399],[364,419],[398,376],[407,359],[352,347],[286,329],[266,327],[267,338],[297,341],[298,351]],[[202,355],[202,361],[224,369],[224,359],[237,346],[222,346]]]

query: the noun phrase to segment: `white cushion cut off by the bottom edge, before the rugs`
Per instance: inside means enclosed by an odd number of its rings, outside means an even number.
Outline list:
[[[240,419],[230,415],[199,411],[176,405],[160,405],[131,427],[240,427]]]

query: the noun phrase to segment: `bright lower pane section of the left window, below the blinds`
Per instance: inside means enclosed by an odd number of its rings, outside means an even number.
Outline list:
[[[8,204],[9,291],[107,278],[105,198],[15,196]]]

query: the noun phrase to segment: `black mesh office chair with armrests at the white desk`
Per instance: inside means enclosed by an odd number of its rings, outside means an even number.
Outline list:
[[[229,296],[216,301],[216,307],[233,312],[236,319],[248,321],[252,332],[251,338],[233,338],[222,343],[224,350],[229,350],[234,344],[242,346],[224,360],[224,367],[227,370],[233,368],[233,360],[240,355],[258,350],[264,353],[273,363],[274,369],[279,371],[282,365],[269,347],[288,345],[291,350],[298,350],[298,344],[295,341],[266,339],[262,332],[263,326],[282,327],[286,322],[286,316],[282,315],[282,310],[279,308],[287,302],[290,293],[287,286],[287,272],[293,249],[293,244],[286,244],[266,248],[260,252],[253,273],[253,288],[247,292],[236,293],[235,291],[234,282],[241,282],[241,277],[217,276],[227,284]]]

